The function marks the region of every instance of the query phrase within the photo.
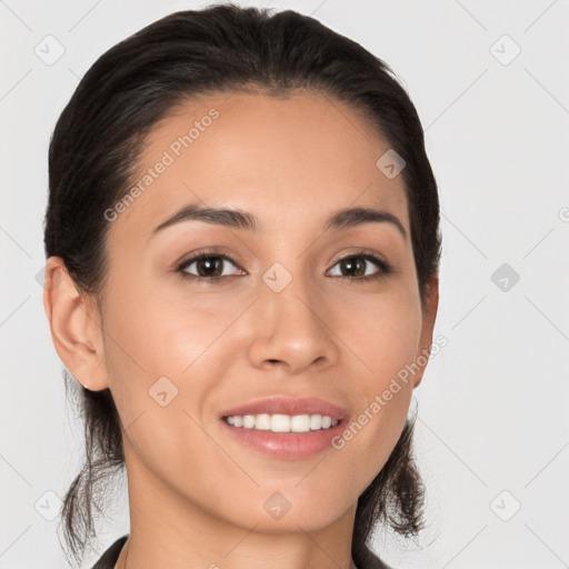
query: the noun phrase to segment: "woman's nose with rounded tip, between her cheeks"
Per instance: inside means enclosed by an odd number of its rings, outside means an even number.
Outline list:
[[[322,369],[336,363],[332,307],[307,279],[293,277],[279,292],[261,282],[250,317],[252,366],[280,366],[288,373],[301,373],[310,366]]]

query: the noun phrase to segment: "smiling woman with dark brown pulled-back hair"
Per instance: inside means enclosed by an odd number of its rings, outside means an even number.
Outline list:
[[[292,11],[177,12],[87,72],[49,177],[44,307],[86,421],[76,560],[124,467],[130,532],[96,568],[388,567],[377,525],[423,525],[407,413],[441,248],[389,67]]]

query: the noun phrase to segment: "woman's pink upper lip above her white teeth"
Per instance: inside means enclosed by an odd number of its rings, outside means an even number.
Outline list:
[[[327,415],[332,419],[341,421],[348,418],[348,411],[329,401],[317,397],[293,399],[287,397],[269,397],[257,399],[239,407],[232,407],[221,413],[221,417],[244,416],[244,415]]]

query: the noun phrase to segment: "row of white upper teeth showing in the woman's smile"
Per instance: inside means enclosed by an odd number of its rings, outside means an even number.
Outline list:
[[[244,429],[258,429],[272,432],[310,432],[329,429],[338,425],[338,419],[328,415],[234,415],[227,422]]]

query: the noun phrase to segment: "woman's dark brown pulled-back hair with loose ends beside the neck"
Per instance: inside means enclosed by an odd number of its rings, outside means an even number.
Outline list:
[[[309,89],[362,112],[401,156],[421,302],[438,273],[437,184],[417,111],[395,72],[359,43],[291,10],[213,4],[172,13],[103,53],[81,79],[49,148],[46,256],[60,257],[80,289],[100,300],[108,276],[103,212],[126,194],[146,137],[173,107],[208,93]],[[379,157],[378,157],[379,158]],[[89,391],[64,372],[84,420],[86,462],[63,501],[66,541],[80,562],[94,536],[92,506],[106,478],[124,467],[109,389]],[[408,420],[388,461],[358,500],[356,563],[376,525],[406,537],[423,525],[423,486]]]

